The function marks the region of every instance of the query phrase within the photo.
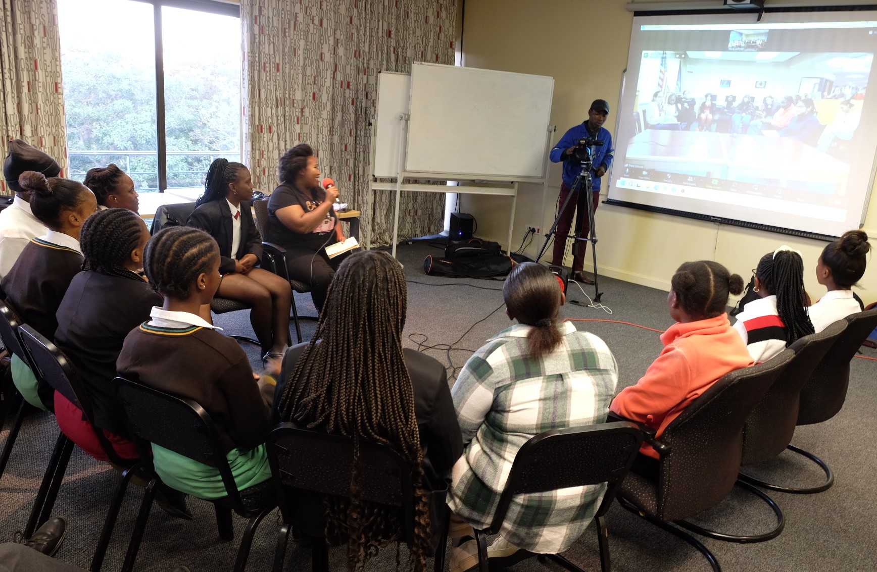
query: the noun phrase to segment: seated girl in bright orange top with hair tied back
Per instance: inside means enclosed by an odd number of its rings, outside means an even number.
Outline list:
[[[656,436],[724,374],[752,365],[746,345],[728,321],[728,294],[743,292],[743,279],[712,260],[686,262],[670,282],[667,309],[676,321],[660,335],[664,350],[636,385],[625,387],[610,409],[656,429]],[[658,477],[658,453],[643,443],[631,467]]]

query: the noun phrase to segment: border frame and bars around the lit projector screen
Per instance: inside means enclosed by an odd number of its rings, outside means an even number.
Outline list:
[[[851,4],[851,5],[840,5],[840,6],[799,6],[799,7],[765,7],[763,11],[744,11],[739,9],[732,8],[719,8],[719,9],[676,9],[676,10],[632,10],[634,18],[637,17],[656,17],[656,16],[717,16],[717,15],[733,15],[733,16],[745,16],[752,15],[753,17],[757,17],[760,21],[761,16],[759,12],[763,13],[772,13],[772,14],[781,14],[781,13],[822,13],[822,12],[859,12],[859,11],[877,11],[877,4]],[[755,19],[755,18],[753,18]],[[622,88],[619,92],[619,110],[621,109],[621,102],[624,99],[624,88],[625,81],[628,69],[627,67],[622,70]],[[618,133],[619,127],[621,123],[621,113],[619,112],[617,120],[616,120],[616,133]],[[612,169],[615,168],[615,165],[610,167],[610,173],[608,174],[608,180],[612,180]],[[877,149],[875,149],[874,157],[872,159],[871,173],[869,177],[869,182],[866,187],[866,193],[864,196],[864,206],[862,208],[862,212],[859,220],[859,229],[864,227],[864,222],[867,215],[868,205],[870,204],[871,197],[873,194],[873,188],[875,183],[875,178],[877,178]],[[766,223],[761,222],[749,222],[749,221],[741,221],[738,219],[733,219],[724,216],[717,215],[703,215],[701,213],[689,212],[684,210],[678,210],[674,208],[666,208],[666,207],[658,207],[654,205],[647,205],[638,202],[632,201],[623,201],[619,199],[610,199],[609,194],[609,185],[607,185],[607,195],[606,199],[602,202],[609,205],[615,205],[618,207],[624,208],[633,208],[636,210],[643,210],[647,212],[658,213],[662,215],[672,215],[672,216],[680,216],[682,218],[690,218],[694,220],[700,220],[705,222],[714,222],[717,225],[726,224],[731,226],[738,226],[746,229],[754,229],[754,230],[765,230],[767,232],[773,232],[775,234],[784,234],[793,237],[803,237],[810,238],[813,240],[819,240],[824,242],[832,242],[838,238],[838,235],[831,234],[822,234],[817,232],[810,232],[807,230],[797,230],[797,229],[789,229],[785,227],[778,227]]]

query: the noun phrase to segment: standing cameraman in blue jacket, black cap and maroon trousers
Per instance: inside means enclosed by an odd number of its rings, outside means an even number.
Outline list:
[[[574,155],[576,143],[579,139],[591,138],[602,141],[602,145],[594,145],[593,161],[594,170],[591,172],[593,179],[593,196],[594,208],[600,204],[600,181],[602,176],[609,170],[612,164],[612,136],[610,132],[603,128],[602,124],[609,116],[609,103],[602,99],[596,99],[591,103],[588,109],[588,121],[581,125],[575,125],[569,131],[564,133],[557,145],[551,150],[551,160],[553,163],[563,161],[563,185],[560,187],[559,207],[567,200],[573,187],[575,178],[581,173],[581,161]],[[581,187],[584,187],[584,180],[581,181]],[[580,189],[575,189],[574,196],[567,203],[567,208],[560,215],[557,225],[557,234],[554,236],[554,251],[552,255],[553,265],[563,265],[563,253],[567,249],[567,235],[572,226],[573,214],[578,211],[575,220],[575,235],[577,237],[588,237],[590,231],[590,221],[588,220],[588,203],[585,193],[579,193]],[[575,253],[573,261],[573,278],[584,283],[594,284],[594,279],[589,278],[582,272],[584,268],[585,251],[588,243],[579,242],[578,251]]]

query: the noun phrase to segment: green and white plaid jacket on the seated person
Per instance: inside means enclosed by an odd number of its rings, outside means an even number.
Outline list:
[[[531,437],[606,420],[618,366],[596,335],[571,322],[563,341],[538,360],[527,357],[531,326],[490,338],[469,358],[451,394],[463,434],[448,505],[476,528],[490,525],[515,455]],[[570,547],[588,527],[604,484],[512,499],[500,533],[517,547],[543,554]]]

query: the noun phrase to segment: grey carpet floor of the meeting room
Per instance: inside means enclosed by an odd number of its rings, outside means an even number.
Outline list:
[[[398,258],[405,265],[409,279],[408,319],[405,324],[405,345],[424,350],[445,364],[449,382],[466,363],[472,351],[496,332],[507,328],[510,321],[503,311],[503,282],[494,280],[444,279],[422,272],[424,256],[436,251],[425,242],[401,246]],[[583,305],[568,303],[561,309],[564,318],[576,320],[577,328],[599,335],[613,351],[621,372],[618,390],[636,383],[661,349],[659,333],[617,321],[626,321],[647,328],[664,330],[672,324],[667,314],[667,293],[614,279],[601,278],[602,309],[587,307],[583,295],[593,296],[593,286],[580,292],[571,286],[569,300],[582,300]],[[296,295],[301,314],[315,315],[310,295]],[[608,321],[607,321],[608,320]],[[246,312],[216,317],[226,334],[253,335]],[[315,321],[301,321],[303,339],[308,340],[316,328]],[[295,328],[292,328],[295,336]],[[258,348],[242,343],[254,368],[260,366]],[[866,356],[877,352],[866,350]],[[872,360],[852,360],[849,392],[844,408],[824,423],[799,427],[793,443],[824,459],[835,471],[835,484],[817,495],[772,493],[786,517],[783,533],[760,544],[733,544],[699,539],[716,555],[727,572],[752,570],[788,571],[844,570],[870,572],[877,568],[877,523],[873,509],[877,507],[877,486],[874,470],[877,450],[866,427],[877,425],[877,394],[874,392],[875,364]],[[8,435],[10,423],[0,434]],[[51,455],[58,429],[48,413],[32,415],[25,420],[11,460],[0,480],[0,541],[12,540],[24,528],[32,501],[39,487],[43,470]],[[873,435],[873,434],[872,434]],[[855,437],[855,438],[853,438]],[[822,477],[815,466],[796,455],[783,454],[764,463],[753,474],[767,476],[775,482],[805,486],[816,484]],[[64,483],[53,514],[68,519],[68,537],[57,558],[88,568],[97,536],[103,526],[111,492],[118,479],[116,471],[97,463],[74,449]],[[125,547],[132,532],[142,491],[132,486],[125,498],[115,526],[110,551],[103,570],[118,570],[125,557]],[[184,564],[193,572],[230,570],[238,549],[244,519],[236,517],[235,540],[222,542],[217,536],[216,519],[210,503],[189,499],[194,521],[169,517],[153,508],[136,569],[170,572]],[[612,567],[618,572],[709,570],[707,561],[693,547],[650,525],[637,516],[613,505],[606,517],[610,528]],[[751,495],[735,489],[714,509],[700,515],[696,522],[726,533],[758,533],[774,526],[774,514]],[[594,528],[578,540],[565,554],[585,570],[600,566]],[[268,570],[274,556],[277,516],[269,515],[261,524],[247,570]],[[403,558],[407,555],[401,548]],[[396,566],[396,548],[381,551],[367,565],[375,572],[389,572]],[[332,549],[330,568],[346,568],[346,554]],[[555,564],[542,564],[535,559],[523,561],[517,572],[538,572],[543,568],[560,570]],[[310,569],[310,547],[289,542],[286,569]]]

